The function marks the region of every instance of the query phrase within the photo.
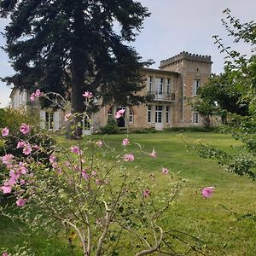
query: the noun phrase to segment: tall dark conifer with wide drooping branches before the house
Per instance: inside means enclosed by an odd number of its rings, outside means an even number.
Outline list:
[[[149,61],[127,45],[149,16],[141,3],[1,0],[0,16],[11,20],[4,50],[16,73],[3,79],[7,84],[60,93],[71,99],[73,113],[84,112],[85,90],[103,96],[103,104],[145,101],[137,95],[143,88],[139,70]]]

